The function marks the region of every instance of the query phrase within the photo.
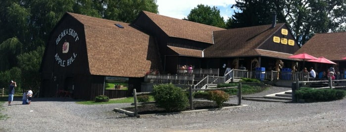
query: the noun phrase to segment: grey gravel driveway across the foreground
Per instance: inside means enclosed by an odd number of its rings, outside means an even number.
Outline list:
[[[271,87],[262,96],[290,88]],[[219,111],[128,117],[113,112],[124,104],[81,105],[76,100],[33,99],[30,105],[3,104],[0,132],[345,132],[346,99],[316,103],[242,100],[248,106]],[[237,103],[237,98],[229,102]]]

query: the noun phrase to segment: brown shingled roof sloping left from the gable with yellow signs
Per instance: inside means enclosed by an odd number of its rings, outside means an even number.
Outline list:
[[[287,59],[292,54],[256,49],[285,26],[284,23],[214,32],[215,44],[204,50],[205,57],[267,56]]]

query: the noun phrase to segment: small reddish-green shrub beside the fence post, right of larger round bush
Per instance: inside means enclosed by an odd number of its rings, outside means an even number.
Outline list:
[[[216,102],[218,107],[221,107],[222,103],[228,101],[230,95],[222,90],[212,90],[208,91],[209,99]]]

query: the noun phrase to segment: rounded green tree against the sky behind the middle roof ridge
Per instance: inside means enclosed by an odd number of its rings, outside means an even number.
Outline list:
[[[190,11],[190,14],[184,20],[206,24],[210,26],[226,28],[225,21],[220,16],[220,10],[213,6],[198,4],[197,7]]]

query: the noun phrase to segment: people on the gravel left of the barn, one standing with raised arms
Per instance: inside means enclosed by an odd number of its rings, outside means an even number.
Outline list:
[[[8,105],[12,105],[11,102],[13,101],[15,87],[17,87],[17,83],[11,80],[9,82],[9,90],[8,90]],[[24,92],[23,98],[22,98],[22,101],[23,101],[22,104],[30,104],[32,96],[33,96],[33,91],[31,89]]]

